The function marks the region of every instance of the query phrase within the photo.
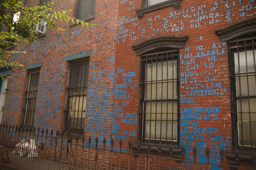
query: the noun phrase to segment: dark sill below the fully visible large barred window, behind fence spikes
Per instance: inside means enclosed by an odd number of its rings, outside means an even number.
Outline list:
[[[131,148],[132,148],[133,153],[138,154],[138,146],[137,145],[132,145]],[[140,146],[140,154],[141,153],[148,153],[148,147],[147,146]],[[158,147],[152,146],[150,153],[159,155]],[[168,148],[162,148],[161,155],[168,155],[169,156],[170,155],[169,149]],[[176,148],[173,149],[172,156],[174,156],[175,159],[181,159],[182,157],[181,157],[180,149],[176,149]],[[176,162],[181,162],[181,161],[176,161]]]

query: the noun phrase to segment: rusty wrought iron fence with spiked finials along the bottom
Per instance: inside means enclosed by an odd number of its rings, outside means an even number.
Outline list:
[[[148,142],[147,153],[141,151],[141,143],[136,143],[136,151],[132,142],[123,143],[122,139],[114,141],[105,137],[88,138],[76,135],[68,130],[48,131],[44,128],[21,128],[14,125],[0,125],[0,164],[16,169],[256,169],[256,153],[252,151],[251,165],[240,164],[240,153],[236,149],[234,157],[236,165],[228,165],[223,148],[219,151],[220,163],[212,163],[211,150],[204,148],[205,161],[198,161],[199,149],[180,147],[180,156],[174,157],[170,144],[168,154],[164,153],[162,144],[158,144],[158,154],[153,153]],[[117,148],[117,149],[114,149]],[[126,152],[125,152],[126,151]],[[185,153],[191,153],[185,158]],[[175,153],[176,154],[176,153]],[[194,157],[194,158],[193,158]]]

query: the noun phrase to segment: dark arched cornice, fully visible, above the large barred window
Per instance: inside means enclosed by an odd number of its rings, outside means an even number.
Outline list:
[[[136,55],[141,55],[149,50],[158,48],[184,48],[187,40],[188,36],[161,36],[133,45],[132,48],[135,50]]]

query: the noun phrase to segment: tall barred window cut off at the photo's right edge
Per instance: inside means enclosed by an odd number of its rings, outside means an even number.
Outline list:
[[[239,149],[256,147],[256,37],[229,42],[233,125]]]

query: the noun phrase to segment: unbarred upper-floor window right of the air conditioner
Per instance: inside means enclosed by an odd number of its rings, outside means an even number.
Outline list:
[[[95,0],[77,0],[76,19],[88,20],[94,18]]]

